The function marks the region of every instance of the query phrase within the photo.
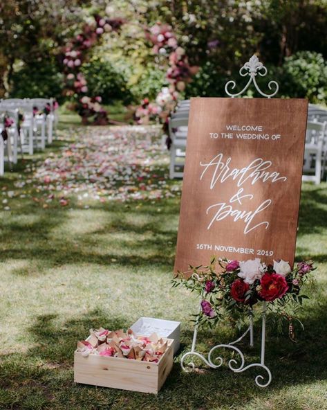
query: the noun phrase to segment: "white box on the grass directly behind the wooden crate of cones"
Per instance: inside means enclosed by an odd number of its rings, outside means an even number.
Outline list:
[[[156,332],[161,337],[174,339],[174,355],[180,346],[180,322],[168,321],[165,319],[155,319],[153,317],[140,317],[138,321],[131,326],[136,335],[149,336]]]

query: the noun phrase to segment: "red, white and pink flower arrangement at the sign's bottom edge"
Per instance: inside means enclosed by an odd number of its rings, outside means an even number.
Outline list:
[[[281,314],[291,325],[292,315],[288,305],[301,305],[308,296],[301,294],[301,288],[316,268],[313,262],[299,262],[291,269],[288,262],[274,260],[265,265],[259,258],[239,262],[238,260],[212,258],[210,265],[190,267],[191,276],[176,277],[173,286],[183,285],[201,297],[197,324],[216,325],[235,312],[252,314],[259,301],[268,303],[272,312]],[[294,307],[294,306],[293,306]]]

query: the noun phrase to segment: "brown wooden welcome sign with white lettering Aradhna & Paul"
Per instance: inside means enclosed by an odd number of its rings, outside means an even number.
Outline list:
[[[175,272],[212,256],[292,266],[308,101],[192,98]]]

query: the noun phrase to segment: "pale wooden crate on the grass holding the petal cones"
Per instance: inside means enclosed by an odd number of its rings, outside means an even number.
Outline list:
[[[143,393],[158,393],[173,366],[173,339],[158,363],[88,355],[75,350],[74,382]]]

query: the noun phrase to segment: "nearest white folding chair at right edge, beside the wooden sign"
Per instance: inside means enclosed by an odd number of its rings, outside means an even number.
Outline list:
[[[324,172],[324,163],[326,159],[326,147],[324,146],[326,127],[326,122],[318,123],[317,121],[308,121],[303,172],[313,172],[313,175],[302,175],[302,181],[313,181],[315,184],[320,184],[321,174]]]

